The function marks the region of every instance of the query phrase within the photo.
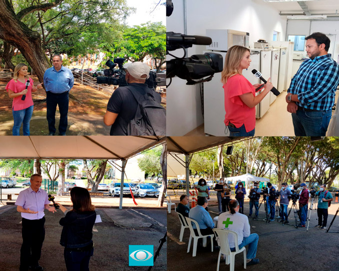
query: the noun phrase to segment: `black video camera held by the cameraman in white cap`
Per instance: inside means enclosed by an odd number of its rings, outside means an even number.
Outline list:
[[[123,67],[125,59],[124,58],[115,58],[113,61],[108,60],[106,62],[106,66],[109,69],[104,70],[105,76],[98,76],[97,83],[98,84],[107,84],[107,85],[118,85],[118,86],[127,86],[126,82],[126,69]],[[115,67],[118,65],[118,69]],[[149,78],[145,81],[145,84],[148,85],[149,88],[155,88],[156,86],[165,86],[165,79],[157,77],[157,73],[155,71],[150,71]]]

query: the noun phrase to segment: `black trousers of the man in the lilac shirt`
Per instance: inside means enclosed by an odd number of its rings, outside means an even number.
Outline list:
[[[23,218],[23,244],[20,249],[20,271],[39,265],[41,248],[45,240],[45,217],[36,220]]]

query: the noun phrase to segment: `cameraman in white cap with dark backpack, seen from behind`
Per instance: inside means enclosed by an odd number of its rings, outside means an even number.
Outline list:
[[[165,135],[166,110],[161,96],[145,84],[150,68],[146,63],[124,65],[127,86],[114,90],[104,116],[112,125],[110,135]]]

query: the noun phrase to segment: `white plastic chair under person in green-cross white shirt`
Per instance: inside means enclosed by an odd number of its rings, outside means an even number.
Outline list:
[[[233,234],[234,235],[234,243],[238,243],[238,234],[235,231],[232,230],[227,230],[227,229],[217,229],[214,228],[213,232],[215,236],[219,239],[219,245],[220,245],[220,251],[219,251],[219,256],[218,256],[218,264],[217,264],[217,271],[219,271],[219,264],[220,264],[220,257],[221,254],[226,255],[225,263],[229,264],[229,270],[234,271],[234,257],[235,254],[238,254],[240,252],[244,253],[244,269],[246,269],[246,248],[242,247],[239,249],[238,245],[235,245],[235,251],[232,252],[229,243],[228,243],[228,234]]]

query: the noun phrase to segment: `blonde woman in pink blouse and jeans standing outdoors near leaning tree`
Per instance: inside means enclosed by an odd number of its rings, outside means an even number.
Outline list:
[[[33,113],[32,92],[42,87],[41,84],[34,87],[33,79],[27,75],[27,72],[26,64],[18,64],[14,69],[13,79],[6,86],[9,97],[13,98],[13,135],[20,135],[22,123],[24,135],[30,135],[30,121]],[[29,86],[26,87],[28,80]]]

